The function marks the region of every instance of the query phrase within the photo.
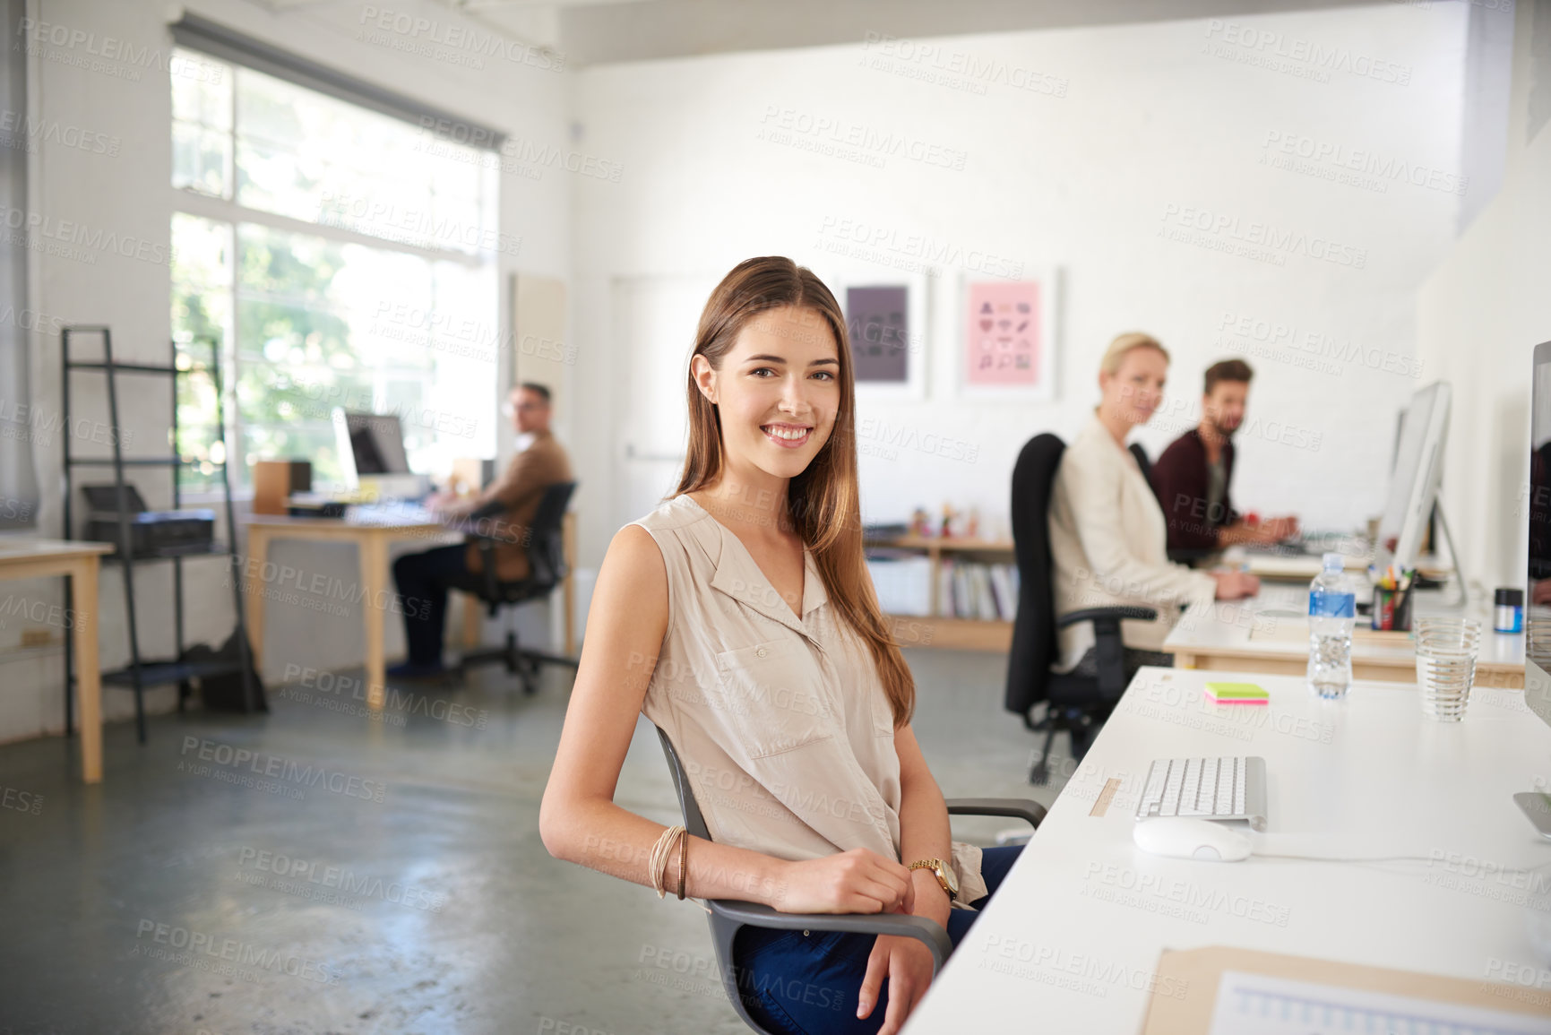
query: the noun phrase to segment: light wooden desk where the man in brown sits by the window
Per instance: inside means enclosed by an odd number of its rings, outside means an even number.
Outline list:
[[[565,551],[566,577],[565,593],[565,636],[566,655],[572,653],[572,622],[575,588],[572,585],[572,545],[575,540],[575,515],[565,515]],[[302,538],[326,543],[355,543],[360,557],[360,593],[361,611],[366,622],[366,704],[382,708],[386,697],[386,659],[383,658],[383,611],[374,601],[385,599],[383,594],[396,593],[388,571],[388,543],[396,540],[425,540],[430,546],[447,546],[462,538],[462,534],[437,521],[349,521],[340,518],[293,518],[253,515],[248,518],[248,557],[257,563],[257,573],[247,571],[244,588],[247,591],[248,642],[253,644],[253,664],[261,664],[264,658],[264,597],[265,582],[262,577],[264,563],[268,560],[270,543],[276,538]],[[439,542],[447,540],[447,542]],[[464,644],[479,642],[479,601],[468,594],[464,597]]]

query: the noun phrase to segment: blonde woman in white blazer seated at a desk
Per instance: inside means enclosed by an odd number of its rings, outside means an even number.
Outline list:
[[[1089,607],[1155,608],[1157,621],[1126,621],[1126,670],[1173,664],[1162,653],[1180,607],[1253,596],[1259,580],[1239,571],[1205,573],[1168,560],[1168,524],[1146,475],[1126,448],[1131,430],[1163,402],[1168,352],[1146,334],[1111,341],[1100,363],[1101,400],[1066,453],[1050,498],[1050,554],[1056,614]],[[1093,630],[1061,630],[1056,672],[1093,675]]]

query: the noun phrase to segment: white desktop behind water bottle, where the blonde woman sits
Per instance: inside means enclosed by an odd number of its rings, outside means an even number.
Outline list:
[[[1525,635],[1492,632],[1492,614],[1484,602],[1473,602],[1463,611],[1444,604],[1441,590],[1419,590],[1413,604],[1416,618],[1427,614],[1469,614],[1481,622],[1481,650],[1477,670],[1525,667]],[[1163,641],[1163,650],[1180,653],[1230,653],[1266,658],[1306,659],[1309,656],[1309,590],[1307,587],[1261,583],[1258,596],[1244,601],[1193,604]],[[1373,642],[1363,638],[1368,619],[1359,616],[1352,639],[1352,663],[1393,661],[1410,666],[1416,659],[1411,639]]]

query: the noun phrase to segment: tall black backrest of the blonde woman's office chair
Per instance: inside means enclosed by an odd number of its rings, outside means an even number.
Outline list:
[[[1036,434],[1013,466],[1013,552],[1017,556],[1017,616],[1007,655],[1007,711],[1027,715],[1045,700],[1056,656],[1055,565],[1050,560],[1050,490],[1066,442]]]

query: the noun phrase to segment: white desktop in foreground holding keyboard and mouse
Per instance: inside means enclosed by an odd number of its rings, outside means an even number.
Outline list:
[[[1396,683],[1320,701],[1297,677],[1256,677],[1269,706],[1205,703],[1202,684],[1230,675],[1142,669],[907,1035],[1132,1035],[1165,948],[1242,947],[1472,981],[1522,965],[1551,988],[1551,961],[1537,959],[1525,920],[1526,905],[1551,908],[1551,866],[1532,878],[1480,875],[1483,864],[1551,864],[1551,841],[1512,801],[1551,777],[1551,728],[1523,694],[1472,698],[1458,725],[1424,720],[1415,687]],[[1132,846],[1152,759],[1231,754],[1266,759],[1269,830],[1245,829],[1256,850],[1430,861],[1200,863]],[[1109,777],[1121,790],[1090,816]]]

